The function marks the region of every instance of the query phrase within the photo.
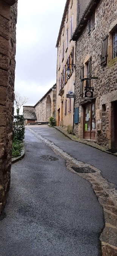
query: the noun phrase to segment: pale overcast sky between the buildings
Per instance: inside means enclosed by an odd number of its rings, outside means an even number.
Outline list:
[[[58,32],[66,0],[18,0],[15,91],[35,105],[56,82]]]

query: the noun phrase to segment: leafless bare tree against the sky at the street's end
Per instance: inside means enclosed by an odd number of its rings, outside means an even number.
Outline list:
[[[20,108],[29,101],[29,98],[25,96],[21,96],[17,91],[15,91],[15,99],[14,99],[14,105],[16,107],[17,116],[19,115]]]

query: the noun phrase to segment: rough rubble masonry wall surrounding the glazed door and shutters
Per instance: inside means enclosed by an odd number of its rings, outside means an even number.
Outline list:
[[[98,80],[91,82],[96,100],[96,115],[98,113],[98,118],[96,116],[96,141],[107,148],[112,148],[114,144],[112,141],[112,130],[114,130],[112,102],[117,101],[117,57],[112,59],[112,32],[117,26],[116,7],[116,0],[101,0],[99,2],[95,9],[95,29],[91,29],[91,33],[88,35],[88,24],[84,25],[82,30],[80,28],[75,54],[75,108],[79,107],[80,123],[74,125],[74,133],[83,138],[85,102],[84,93],[83,96],[80,96],[80,69],[84,64],[84,77],[87,77],[86,63],[91,57],[91,76],[98,77]],[[102,40],[106,35],[108,35],[108,57],[107,63],[101,65]],[[84,82],[84,86],[86,86],[86,82]]]

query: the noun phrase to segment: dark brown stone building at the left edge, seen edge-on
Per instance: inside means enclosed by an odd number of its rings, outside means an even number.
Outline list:
[[[10,186],[17,0],[0,0],[0,213]]]

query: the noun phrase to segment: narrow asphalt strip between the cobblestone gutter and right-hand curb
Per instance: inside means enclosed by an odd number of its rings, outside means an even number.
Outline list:
[[[84,163],[89,163],[99,170],[104,178],[117,186],[117,157],[99,149],[92,148],[83,143],[72,141],[65,137],[55,128],[50,127],[32,127],[37,133],[52,141],[65,152]]]

